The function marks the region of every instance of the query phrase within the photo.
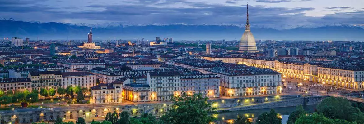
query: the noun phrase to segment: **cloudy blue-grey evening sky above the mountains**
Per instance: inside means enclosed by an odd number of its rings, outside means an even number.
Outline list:
[[[125,24],[364,25],[364,0],[0,0],[0,18]]]

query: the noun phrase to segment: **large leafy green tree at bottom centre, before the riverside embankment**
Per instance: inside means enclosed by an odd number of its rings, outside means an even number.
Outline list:
[[[207,97],[201,94],[171,97],[173,105],[161,117],[161,123],[165,124],[207,124],[215,120],[215,109],[211,103],[207,103]]]

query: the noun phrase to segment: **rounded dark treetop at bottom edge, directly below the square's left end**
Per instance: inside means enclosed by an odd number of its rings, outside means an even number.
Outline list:
[[[282,124],[282,119],[274,109],[270,109],[269,113],[264,112],[258,116],[258,124]]]

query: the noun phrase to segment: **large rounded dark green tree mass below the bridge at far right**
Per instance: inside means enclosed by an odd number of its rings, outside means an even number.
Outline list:
[[[347,121],[357,121],[364,123],[364,113],[351,106],[351,102],[344,98],[328,97],[317,105],[317,112],[322,113],[330,119],[342,119]]]

